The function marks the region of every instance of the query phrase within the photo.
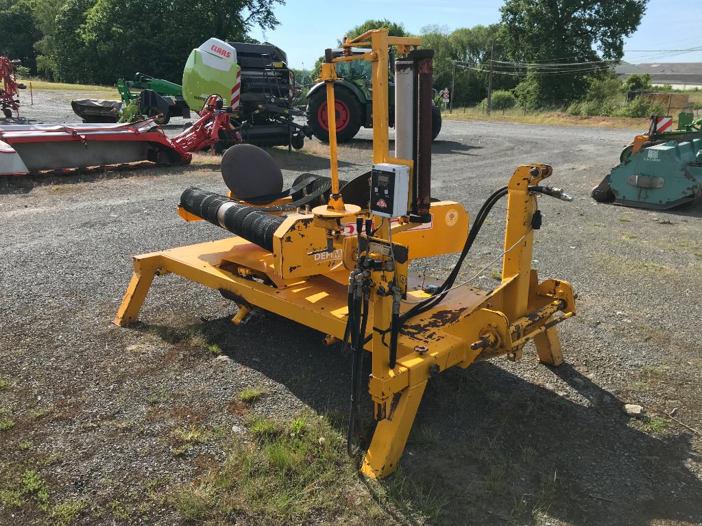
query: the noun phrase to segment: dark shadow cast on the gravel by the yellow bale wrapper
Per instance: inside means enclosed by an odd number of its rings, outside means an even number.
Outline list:
[[[350,359],[339,345],[326,347],[321,333],[271,313],[239,327],[219,318],[199,330],[220,335],[209,343],[237,363],[331,414],[345,434]],[[639,431],[613,393],[569,364],[552,372],[555,384],[561,379],[589,404],[491,362],[430,380],[401,462],[413,507],[435,516],[439,506],[437,523],[449,525],[534,524],[544,514],[578,526],[699,522],[702,481],[685,463],[702,459],[691,436]],[[367,397],[364,411],[370,418]]]

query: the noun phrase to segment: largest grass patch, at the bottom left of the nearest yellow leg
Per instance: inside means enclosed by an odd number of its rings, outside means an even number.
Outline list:
[[[292,422],[256,418],[255,443],[232,440],[225,464],[173,497],[192,521],[252,524],[380,524],[381,508],[359,485],[343,439],[324,419]],[[384,521],[385,522],[385,521]]]

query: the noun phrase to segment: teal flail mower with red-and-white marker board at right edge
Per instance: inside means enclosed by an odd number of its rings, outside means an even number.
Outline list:
[[[638,135],[623,152],[621,163],[592,189],[592,198],[651,210],[668,210],[699,201],[701,122],[687,119],[677,130],[661,133],[653,121],[649,133]]]

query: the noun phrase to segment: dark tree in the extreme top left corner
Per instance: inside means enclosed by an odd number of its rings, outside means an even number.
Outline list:
[[[34,71],[34,15],[28,0],[0,0],[0,55],[22,60]]]

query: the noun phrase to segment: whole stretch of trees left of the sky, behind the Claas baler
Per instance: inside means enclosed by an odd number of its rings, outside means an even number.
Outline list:
[[[143,72],[180,83],[192,48],[215,36],[253,42],[283,0],[0,0],[0,53],[32,75],[114,84]]]

